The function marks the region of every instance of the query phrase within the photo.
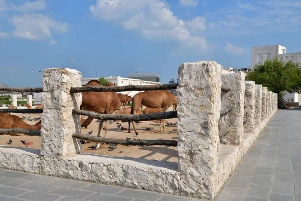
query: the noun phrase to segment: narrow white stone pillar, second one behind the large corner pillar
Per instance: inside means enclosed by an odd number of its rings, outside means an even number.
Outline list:
[[[245,81],[244,133],[252,133],[255,126],[255,82]]]

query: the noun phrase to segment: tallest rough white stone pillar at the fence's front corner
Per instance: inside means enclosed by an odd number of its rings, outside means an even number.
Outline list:
[[[221,65],[184,63],[179,69],[178,152],[181,182],[187,195],[212,198],[219,157]]]

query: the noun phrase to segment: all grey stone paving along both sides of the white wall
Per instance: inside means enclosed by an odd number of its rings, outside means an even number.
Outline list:
[[[300,108],[277,111],[216,200],[301,200],[300,121]],[[0,200],[204,201],[6,169],[0,169]]]

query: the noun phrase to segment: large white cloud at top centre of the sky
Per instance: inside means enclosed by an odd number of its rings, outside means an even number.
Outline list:
[[[115,21],[127,30],[133,30],[148,40],[175,41],[186,48],[206,49],[206,40],[189,31],[195,23],[202,28],[202,19],[185,23],[174,16],[163,0],[98,0],[90,6],[92,15],[100,20]]]

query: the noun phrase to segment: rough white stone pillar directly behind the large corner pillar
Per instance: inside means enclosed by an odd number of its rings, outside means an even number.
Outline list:
[[[243,134],[245,74],[243,72],[222,74],[222,86],[230,87],[229,92],[222,92],[221,111],[231,109],[218,123],[219,130],[232,128],[232,131],[220,137],[220,142],[239,145]]]

